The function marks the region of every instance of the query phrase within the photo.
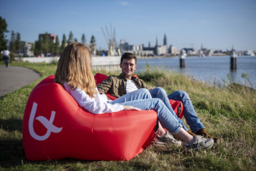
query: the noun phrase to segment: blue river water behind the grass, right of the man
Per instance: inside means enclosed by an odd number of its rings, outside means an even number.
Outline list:
[[[256,88],[256,56],[238,56],[235,71],[230,70],[230,56],[186,57],[185,68],[180,68],[180,58],[139,59],[137,72],[143,71],[147,62],[152,67],[177,71],[210,84],[215,82],[224,85],[224,82],[228,83],[227,78],[230,78],[235,83]]]

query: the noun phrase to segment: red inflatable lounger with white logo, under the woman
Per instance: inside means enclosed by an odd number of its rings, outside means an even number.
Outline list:
[[[152,140],[156,120],[153,110],[94,115],[79,107],[51,75],[27,101],[23,146],[27,160],[131,160]]]

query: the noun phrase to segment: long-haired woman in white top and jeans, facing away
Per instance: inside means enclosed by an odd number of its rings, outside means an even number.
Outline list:
[[[138,89],[113,101],[108,100],[104,94],[100,95],[91,71],[91,64],[91,53],[88,48],[82,43],[72,42],[62,52],[55,74],[55,82],[62,84],[81,107],[94,114],[154,109],[160,123],[184,141],[185,150],[212,147],[213,139],[192,136],[186,132],[165,104],[160,99],[152,99],[147,89]]]

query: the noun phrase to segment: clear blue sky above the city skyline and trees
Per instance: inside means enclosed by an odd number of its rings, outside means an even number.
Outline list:
[[[96,38],[107,49],[101,27],[115,27],[116,40],[155,46],[156,37],[168,46],[227,50],[256,50],[256,1],[58,1],[0,0],[0,16],[7,29],[34,42],[39,33],[54,33],[62,40],[70,31],[81,40]],[[10,38],[10,32],[7,33]]]

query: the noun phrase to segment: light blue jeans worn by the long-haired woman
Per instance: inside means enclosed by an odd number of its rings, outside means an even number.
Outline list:
[[[164,128],[173,133],[173,135],[176,135],[176,133],[180,131],[180,123],[178,123],[178,120],[170,113],[162,100],[157,98],[152,99],[151,93],[145,88],[137,89],[136,91],[111,101],[111,104],[115,103],[132,105],[142,110],[153,109],[157,112],[158,119]]]

